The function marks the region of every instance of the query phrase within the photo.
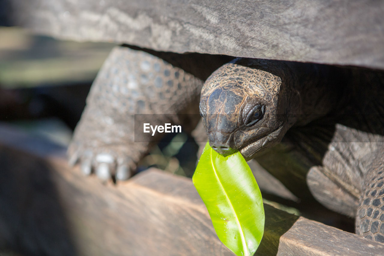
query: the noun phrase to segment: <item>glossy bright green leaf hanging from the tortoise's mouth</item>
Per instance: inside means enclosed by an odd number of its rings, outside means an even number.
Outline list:
[[[240,152],[224,157],[205,145],[192,181],[220,241],[236,255],[253,255],[264,233],[260,189]]]

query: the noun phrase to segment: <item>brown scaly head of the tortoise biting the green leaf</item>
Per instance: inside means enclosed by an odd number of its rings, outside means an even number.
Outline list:
[[[286,130],[287,95],[281,78],[261,60],[238,58],[205,81],[200,115],[210,146],[227,156],[239,150],[248,161],[281,141]]]

